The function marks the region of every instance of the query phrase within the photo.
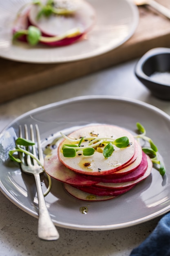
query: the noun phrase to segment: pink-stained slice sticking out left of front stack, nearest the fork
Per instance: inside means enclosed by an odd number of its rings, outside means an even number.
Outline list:
[[[61,182],[77,185],[77,186],[90,186],[96,184],[96,181],[84,175],[75,173],[66,168],[57,157],[57,149],[52,150],[51,155],[44,158],[44,169],[51,177]]]

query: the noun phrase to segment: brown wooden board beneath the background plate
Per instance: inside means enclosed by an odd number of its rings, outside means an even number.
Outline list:
[[[157,0],[170,9],[170,0]],[[0,103],[138,58],[149,49],[170,47],[170,20],[151,7],[139,8],[135,34],[120,47],[82,61],[31,64],[0,58]]]

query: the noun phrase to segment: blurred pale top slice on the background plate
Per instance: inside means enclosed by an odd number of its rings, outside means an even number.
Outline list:
[[[74,15],[51,15],[48,18],[42,16],[40,19],[37,19],[40,7],[33,4],[29,12],[29,21],[46,36],[61,36],[75,28],[79,28],[84,34],[91,29],[95,22],[95,10],[84,0],[78,2],[79,6]]]

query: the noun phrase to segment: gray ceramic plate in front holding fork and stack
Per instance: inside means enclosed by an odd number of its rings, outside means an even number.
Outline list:
[[[144,125],[148,137],[159,148],[166,166],[162,178],[158,171],[128,193],[105,202],[85,202],[68,195],[60,182],[53,180],[46,204],[55,225],[70,229],[105,230],[136,225],[170,210],[170,117],[151,105],[117,97],[78,97],[53,103],[22,115],[0,135],[0,190],[14,204],[38,217],[37,197],[33,177],[21,173],[10,162],[8,152],[14,146],[21,124],[38,124],[43,145],[57,132],[90,123],[115,124],[132,132],[136,122]],[[46,181],[42,182],[43,189]],[[88,208],[82,214],[80,207]]]

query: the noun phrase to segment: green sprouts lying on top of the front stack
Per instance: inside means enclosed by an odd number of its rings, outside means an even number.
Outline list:
[[[61,135],[67,140],[70,141],[71,144],[64,144],[62,147],[64,157],[75,157],[77,155],[78,150],[82,150],[84,156],[90,156],[95,153],[97,147],[104,147],[103,155],[105,158],[110,157],[113,154],[114,146],[118,148],[126,148],[129,146],[128,137],[121,137],[118,139],[114,139],[112,137],[82,137],[79,139],[72,139],[67,137],[61,132]],[[82,142],[89,141],[87,145],[82,146]]]

